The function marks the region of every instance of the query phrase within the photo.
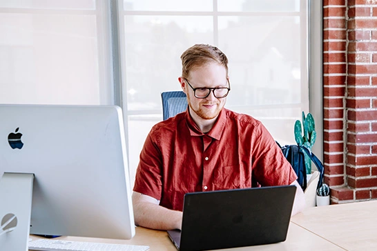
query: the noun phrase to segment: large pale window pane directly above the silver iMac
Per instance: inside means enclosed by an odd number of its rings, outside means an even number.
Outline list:
[[[0,34],[1,103],[103,103],[95,15],[3,13]]]

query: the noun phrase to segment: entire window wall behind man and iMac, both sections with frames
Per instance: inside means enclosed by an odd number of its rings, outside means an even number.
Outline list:
[[[122,106],[134,177],[146,135],[162,121],[160,93],[180,90],[180,55],[210,43],[229,58],[226,108],[260,119],[285,144],[310,105],[320,135],[322,52],[308,53],[308,41],[322,43],[320,2],[0,0],[0,103]]]

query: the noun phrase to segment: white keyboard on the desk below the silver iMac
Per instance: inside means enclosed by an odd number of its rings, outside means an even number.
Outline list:
[[[149,248],[148,245],[60,241],[54,239],[37,239],[28,243],[29,250],[41,251],[144,251]]]

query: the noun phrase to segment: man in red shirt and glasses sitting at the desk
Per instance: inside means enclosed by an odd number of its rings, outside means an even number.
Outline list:
[[[195,45],[182,56],[186,112],[157,123],[144,143],[133,192],[135,223],[181,229],[186,192],[297,186],[292,214],[305,205],[297,176],[271,134],[253,117],[224,108],[231,90],[228,59]]]

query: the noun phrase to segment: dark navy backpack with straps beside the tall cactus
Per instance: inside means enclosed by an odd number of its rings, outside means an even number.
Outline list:
[[[282,150],[284,157],[289,163],[291,163],[293,170],[297,174],[297,181],[304,191],[307,188],[307,170],[305,168],[304,151],[307,153],[311,161],[313,161],[316,165],[318,172],[320,172],[320,179],[318,180],[317,189],[320,188],[323,182],[324,168],[322,162],[316,157],[316,155],[314,155],[313,152],[309,151],[309,149],[305,148],[305,146],[284,145],[283,147],[281,147],[279,143],[278,145]]]

